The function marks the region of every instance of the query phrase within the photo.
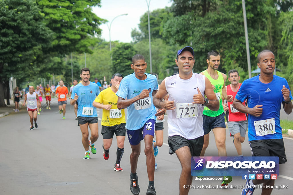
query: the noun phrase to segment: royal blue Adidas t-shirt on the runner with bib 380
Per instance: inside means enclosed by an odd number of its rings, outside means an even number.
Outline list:
[[[236,99],[243,102],[247,99],[249,108],[256,105],[263,105],[263,112],[260,117],[248,114],[248,141],[260,139],[282,139],[282,128],[280,126],[280,109],[282,102],[285,101],[281,89],[283,85],[290,90],[286,79],[274,75],[270,83],[262,83],[259,75],[243,81]],[[290,91],[290,97],[292,94]],[[266,134],[273,129],[272,119],[275,120],[275,133]],[[260,122],[264,120],[264,122]],[[268,122],[266,122],[266,120]],[[256,127],[256,129],[255,129]],[[258,132],[260,135],[257,135]]]

